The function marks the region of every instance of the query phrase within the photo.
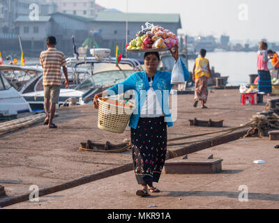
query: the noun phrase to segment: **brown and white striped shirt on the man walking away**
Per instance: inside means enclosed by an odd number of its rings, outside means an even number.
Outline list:
[[[66,66],[64,54],[48,48],[40,53],[40,65],[43,67],[43,85],[61,86],[61,66]]]

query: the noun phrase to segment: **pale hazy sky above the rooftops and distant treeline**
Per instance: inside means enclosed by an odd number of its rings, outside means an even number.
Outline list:
[[[179,13],[190,36],[221,35],[231,40],[279,42],[278,0],[96,0],[105,8],[129,13]],[[148,22],[148,21],[146,21]]]

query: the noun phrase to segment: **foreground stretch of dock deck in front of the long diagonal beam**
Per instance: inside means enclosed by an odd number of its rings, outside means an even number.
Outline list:
[[[40,202],[18,203],[7,208],[158,209],[279,208],[279,141],[240,139],[189,155],[189,159],[222,158],[220,174],[163,174],[162,193],[148,198],[135,195],[140,187],[133,172],[98,180],[41,197]],[[266,164],[254,164],[264,160]],[[239,201],[239,186],[248,187],[248,202]],[[156,209],[154,208],[154,209]]]

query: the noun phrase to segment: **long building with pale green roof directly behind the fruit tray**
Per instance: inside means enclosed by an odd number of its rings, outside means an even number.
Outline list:
[[[146,22],[163,26],[174,33],[181,29],[181,18],[179,14],[147,14],[147,13],[117,13],[106,11],[98,13],[95,20],[89,22],[89,30],[101,31],[101,39],[98,42],[99,47],[108,47],[114,54],[115,45],[119,49],[126,47],[126,20],[128,18],[128,42],[136,37],[138,31]],[[125,54],[126,52],[121,52]],[[135,56],[135,55],[134,55]]]

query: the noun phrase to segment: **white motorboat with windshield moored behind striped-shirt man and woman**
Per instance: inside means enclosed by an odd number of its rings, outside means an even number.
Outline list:
[[[133,72],[143,70],[136,59],[122,59],[118,67],[115,65],[116,58],[111,57],[91,56],[80,60],[72,57],[67,58],[66,61],[68,68],[73,70],[86,68],[90,75],[84,75],[83,81],[75,89],[64,89],[62,85],[56,107],[69,106],[70,98],[76,101],[76,105],[90,104],[95,94],[122,82]],[[30,80],[20,89],[20,93],[29,102],[33,111],[42,110],[44,108],[43,75]]]

